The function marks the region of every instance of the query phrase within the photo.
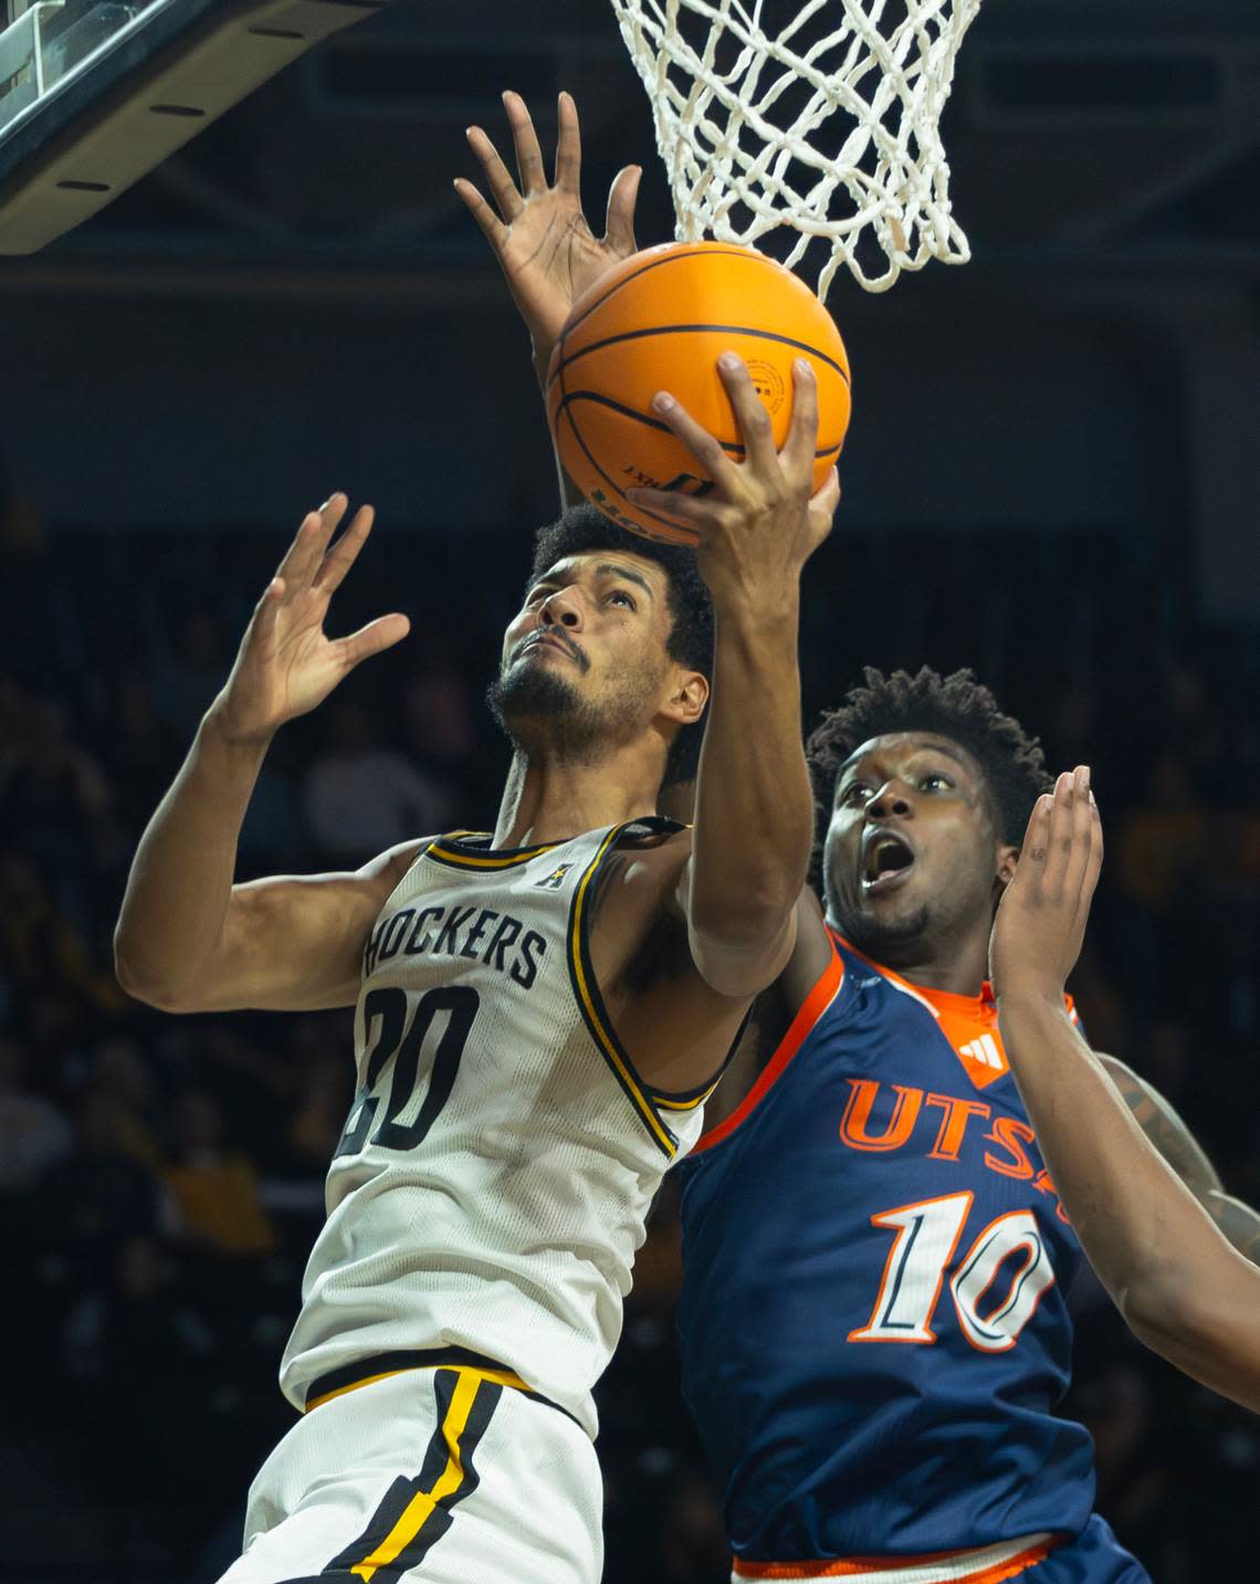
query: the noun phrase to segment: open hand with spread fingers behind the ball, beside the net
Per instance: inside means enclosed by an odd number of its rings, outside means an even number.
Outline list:
[[[456,179],[454,190],[494,249],[533,339],[533,360],[541,374],[573,303],[613,265],[636,250],[635,198],[643,171],[638,165],[627,165],[613,179],[605,234],[597,238],[583,212],[583,144],[573,97],[560,95],[551,182],[526,101],[519,93],[505,93],[503,108],[516,149],[519,184],[481,127],[469,127],[469,144],[481,162],[494,206],[462,176]]]

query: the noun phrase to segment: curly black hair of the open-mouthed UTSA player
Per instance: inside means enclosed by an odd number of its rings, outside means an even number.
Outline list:
[[[831,808],[836,771],[856,748],[888,732],[934,732],[959,743],[985,771],[1002,840],[1019,846],[1032,805],[1053,781],[1038,738],[1002,714],[997,700],[972,670],[942,676],[924,665],[885,675],[867,665],[864,684],[850,687],[806,744],[814,789],[823,809]]]

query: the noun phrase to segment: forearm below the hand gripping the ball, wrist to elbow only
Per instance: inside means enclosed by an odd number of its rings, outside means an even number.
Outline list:
[[[772,607],[717,610],[687,917],[701,973],[730,995],[757,993],[782,968],[809,871],[798,635],[796,589]]]

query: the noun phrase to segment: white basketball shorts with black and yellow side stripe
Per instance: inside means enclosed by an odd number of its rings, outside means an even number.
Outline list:
[[[598,1584],[595,1448],[511,1380],[453,1364],[317,1399],[258,1472],[220,1584]]]

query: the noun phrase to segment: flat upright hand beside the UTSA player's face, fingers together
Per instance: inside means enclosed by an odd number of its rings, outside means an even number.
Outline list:
[[[1076,965],[1099,884],[1103,840],[1089,767],[1059,776],[1037,798],[1019,863],[997,908],[989,938],[994,995],[1062,1001]]]

